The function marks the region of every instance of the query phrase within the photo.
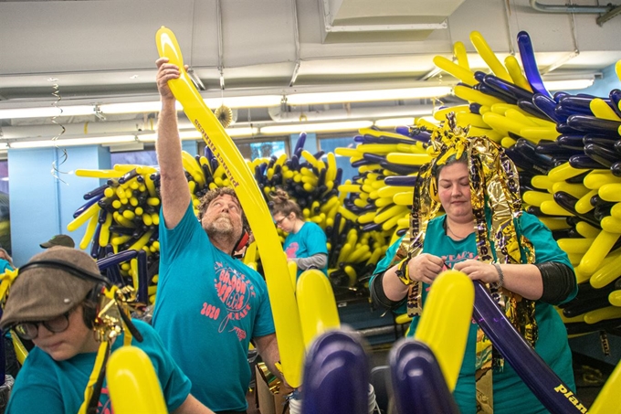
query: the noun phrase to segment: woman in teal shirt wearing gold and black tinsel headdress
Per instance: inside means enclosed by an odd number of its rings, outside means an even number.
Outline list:
[[[410,231],[375,270],[375,303],[413,317],[414,335],[429,286],[447,269],[485,283],[510,323],[569,387],[574,386],[567,333],[553,306],[577,292],[567,255],[542,222],[521,210],[518,173],[487,137],[468,137],[449,114],[431,137]],[[446,214],[439,215],[442,208]],[[548,412],[472,323],[453,396],[462,413]]]

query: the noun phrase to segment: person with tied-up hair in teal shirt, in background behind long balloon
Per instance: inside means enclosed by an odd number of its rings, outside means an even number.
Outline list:
[[[298,277],[307,269],[319,269],[328,276],[328,247],[326,235],[316,223],[304,221],[298,204],[277,189],[269,203],[276,226],[288,233],[283,249],[287,258],[298,265]]]

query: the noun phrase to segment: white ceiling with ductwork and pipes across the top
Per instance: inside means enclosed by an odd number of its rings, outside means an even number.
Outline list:
[[[547,2],[564,4],[562,0]],[[593,74],[621,59],[621,17],[598,26],[596,14],[542,13],[532,3],[0,0],[0,109],[56,101],[54,84],[61,104],[156,97],[155,32],[161,26],[174,31],[184,62],[205,84],[204,94],[214,96],[264,89],[282,93],[356,89],[361,83],[387,81],[412,86],[435,69],[435,56],[452,58],[456,41],[465,44],[473,69],[489,71],[468,40],[474,30],[501,59],[518,52],[516,36],[527,31],[542,73],[567,60],[546,77]],[[574,4],[597,5],[593,0]],[[221,75],[224,91],[219,89]],[[455,82],[446,73],[426,81]],[[269,119],[267,110],[239,111],[239,121],[247,121],[247,116],[254,121]],[[82,117],[65,122],[84,121]],[[5,120],[0,127],[48,122]]]

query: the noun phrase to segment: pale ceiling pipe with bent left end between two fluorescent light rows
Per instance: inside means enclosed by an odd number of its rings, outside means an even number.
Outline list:
[[[405,116],[422,116],[433,113],[432,105],[393,106],[385,108],[353,108],[326,111],[290,111],[283,112],[280,107],[268,108],[269,117],[274,122],[313,122],[376,118],[399,118]]]

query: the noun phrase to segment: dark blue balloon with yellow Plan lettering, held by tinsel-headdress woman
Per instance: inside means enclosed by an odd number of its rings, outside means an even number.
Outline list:
[[[543,406],[553,413],[586,412],[574,392],[510,324],[485,286],[477,281],[474,289],[475,320]]]

